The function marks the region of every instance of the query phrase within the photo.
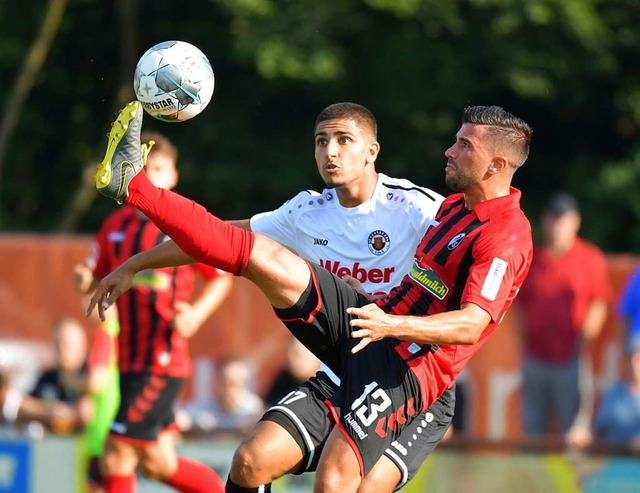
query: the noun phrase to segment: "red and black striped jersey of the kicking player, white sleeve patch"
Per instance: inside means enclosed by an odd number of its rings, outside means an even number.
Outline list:
[[[491,322],[473,345],[401,342],[396,351],[417,375],[424,401],[451,386],[469,358],[493,333],[518,293],[531,265],[531,226],[520,209],[520,191],[481,202],[473,210],[462,194],[442,203],[402,283],[378,305],[396,315],[432,315],[474,303]]]

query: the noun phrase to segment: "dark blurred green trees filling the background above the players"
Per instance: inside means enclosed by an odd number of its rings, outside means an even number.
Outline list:
[[[52,0],[0,3],[0,110]],[[8,142],[0,229],[93,232],[114,205],[80,172],[101,159],[138,57],[183,39],[216,73],[189,122],[145,126],[180,148],[179,190],[225,218],[322,187],[312,130],[351,100],[379,120],[379,169],[442,193],[444,150],[469,104],[534,127],[516,175],[534,223],[563,188],[583,233],[640,251],[640,2],[637,0],[68,0]]]

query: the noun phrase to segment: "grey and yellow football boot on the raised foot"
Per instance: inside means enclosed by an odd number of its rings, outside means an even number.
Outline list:
[[[144,167],[153,145],[140,145],[142,106],[138,101],[127,104],[111,124],[107,150],[94,176],[96,188],[122,204],[128,195],[129,182]]]

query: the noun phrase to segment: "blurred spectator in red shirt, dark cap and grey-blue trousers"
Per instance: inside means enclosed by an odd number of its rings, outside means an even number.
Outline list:
[[[605,256],[578,237],[580,222],[571,195],[548,198],[543,242],[516,301],[523,329],[524,431],[550,436],[557,420],[570,444],[588,440],[593,377],[585,350],[602,330],[611,296]]]

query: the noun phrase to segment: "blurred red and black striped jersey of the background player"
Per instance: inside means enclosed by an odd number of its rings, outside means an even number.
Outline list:
[[[95,275],[102,278],[132,255],[167,239],[153,222],[124,206],[105,220],[98,233]],[[121,373],[191,374],[188,342],[173,330],[173,319],[175,302],[191,299],[196,271],[207,279],[218,275],[214,267],[203,264],[145,270],[117,299]]]

